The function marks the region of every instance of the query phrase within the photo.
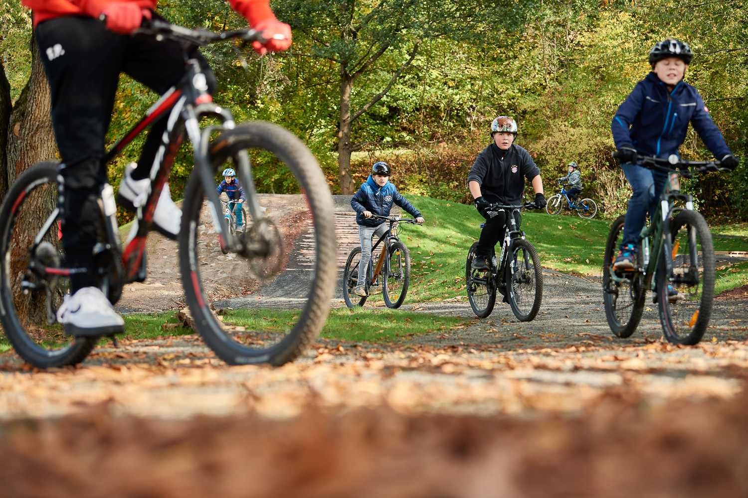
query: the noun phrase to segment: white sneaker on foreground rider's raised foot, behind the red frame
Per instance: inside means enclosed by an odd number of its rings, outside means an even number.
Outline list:
[[[120,190],[117,191],[117,202],[132,211],[145,204],[146,193],[150,184],[149,178],[143,178],[142,180],[132,179],[132,171],[135,169],[135,166],[137,166],[135,163],[127,165],[125,175],[120,182]],[[161,196],[159,196],[156,211],[153,213],[153,225],[155,225],[156,230],[166,237],[176,240],[177,235],[180,233],[181,221],[182,210],[177,208],[177,205],[171,200],[169,184],[165,183],[161,189]]]

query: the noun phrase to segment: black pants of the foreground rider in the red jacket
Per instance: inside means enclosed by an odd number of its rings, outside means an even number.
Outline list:
[[[91,17],[49,19],[37,26],[36,36],[52,93],[52,125],[65,165],[59,205],[67,262],[90,268],[97,238],[96,198],[107,181],[102,158],[120,72],[161,94],[184,75],[184,56],[177,42],[116,34]],[[212,90],[215,77],[207,62],[197,57]],[[167,118],[151,125],[133,178],[148,176]],[[73,292],[95,284],[91,271],[76,274],[71,281]]]

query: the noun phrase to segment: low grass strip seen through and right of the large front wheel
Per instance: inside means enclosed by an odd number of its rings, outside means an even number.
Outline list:
[[[278,324],[294,322],[298,310],[226,310],[231,322],[252,330],[272,330]],[[335,308],[330,311],[320,337],[370,343],[408,340],[417,334],[440,332],[464,323],[453,317],[438,317],[390,308]]]

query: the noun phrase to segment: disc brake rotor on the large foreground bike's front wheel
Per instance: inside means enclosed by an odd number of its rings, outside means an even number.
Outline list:
[[[272,278],[283,266],[283,235],[269,218],[260,218],[245,235],[249,268],[260,279]]]

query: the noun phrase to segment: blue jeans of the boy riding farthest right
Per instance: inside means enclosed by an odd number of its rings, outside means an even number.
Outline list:
[[[660,193],[667,182],[667,173],[646,169],[636,164],[621,164],[621,169],[628,183],[631,184],[631,190],[634,190],[634,195],[628,201],[626,220],[623,224],[623,240],[619,246],[622,250],[628,244],[637,247],[639,235],[646,222],[647,211],[652,220],[655,216],[660,216],[657,206]]]

